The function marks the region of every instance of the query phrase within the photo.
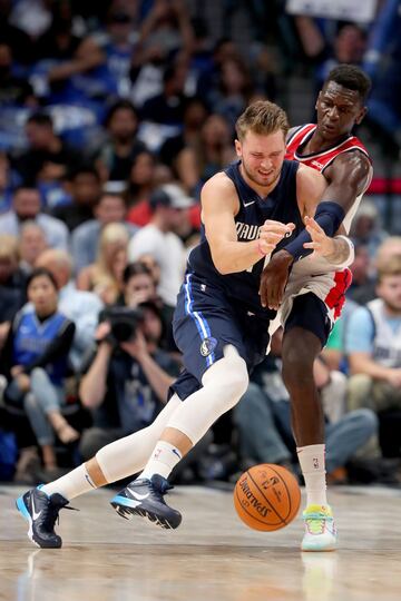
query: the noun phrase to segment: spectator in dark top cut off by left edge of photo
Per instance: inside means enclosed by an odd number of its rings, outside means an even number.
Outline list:
[[[12,317],[26,302],[26,276],[18,263],[18,238],[0,234],[0,348]]]

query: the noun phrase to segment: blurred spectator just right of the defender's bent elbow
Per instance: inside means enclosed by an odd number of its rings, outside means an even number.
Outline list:
[[[364,198],[353,218],[350,236],[354,244],[365,245],[373,260],[379,246],[388,237],[381,225],[379,210],[372,200]]]

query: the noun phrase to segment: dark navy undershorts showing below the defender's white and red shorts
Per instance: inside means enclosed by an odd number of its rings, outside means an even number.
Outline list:
[[[293,306],[288,317],[285,321],[284,334],[293,327],[302,327],[312,332],[325,346],[332,322],[327,314],[327,307],[315,294],[300,294],[293,299]]]

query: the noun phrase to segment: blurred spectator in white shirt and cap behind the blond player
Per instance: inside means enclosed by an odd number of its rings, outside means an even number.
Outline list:
[[[175,230],[187,219],[194,200],[176,184],[166,184],[150,197],[153,216],[130,240],[128,258],[140,260],[143,255],[151,255],[160,267],[158,294],[170,307],[172,314],[177,300],[185,269],[185,248]]]

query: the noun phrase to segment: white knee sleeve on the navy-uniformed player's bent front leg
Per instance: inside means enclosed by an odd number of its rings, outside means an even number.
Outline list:
[[[226,346],[224,357],[205,372],[203,387],[176,408],[166,427],[179,430],[195,445],[223,413],[236,405],[248,382],[245,361],[234,346]]]

